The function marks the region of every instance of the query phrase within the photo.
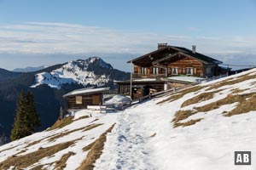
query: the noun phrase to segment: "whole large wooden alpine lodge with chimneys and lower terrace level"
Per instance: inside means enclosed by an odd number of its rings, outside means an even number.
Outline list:
[[[132,82],[127,80],[115,83],[119,94],[131,95],[132,99],[196,83],[227,71],[218,66],[222,64],[218,59],[197,53],[195,46],[190,50],[167,43],[159,43],[155,51],[128,63],[133,65]]]

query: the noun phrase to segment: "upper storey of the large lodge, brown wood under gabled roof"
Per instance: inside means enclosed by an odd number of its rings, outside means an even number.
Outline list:
[[[221,62],[187,48],[161,45],[156,51],[132,60],[133,78],[218,76]],[[195,47],[194,47],[195,48]]]

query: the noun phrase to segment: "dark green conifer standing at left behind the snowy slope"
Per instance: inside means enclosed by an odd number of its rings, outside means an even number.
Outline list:
[[[33,96],[22,91],[17,102],[15,122],[11,132],[11,140],[20,139],[34,133],[40,126],[40,119],[36,112]]]

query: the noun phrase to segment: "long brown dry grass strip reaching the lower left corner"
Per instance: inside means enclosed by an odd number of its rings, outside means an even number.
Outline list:
[[[55,144],[47,148],[40,148],[32,153],[22,156],[10,156],[7,160],[0,163],[0,169],[8,169],[14,166],[15,169],[22,169],[31,166],[46,156],[52,156],[60,150],[64,150],[74,144],[76,140],[66,143]]]

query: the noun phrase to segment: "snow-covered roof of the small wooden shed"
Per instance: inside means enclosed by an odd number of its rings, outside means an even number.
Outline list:
[[[63,95],[64,98],[78,94],[95,94],[108,91],[109,88],[81,88]]]

